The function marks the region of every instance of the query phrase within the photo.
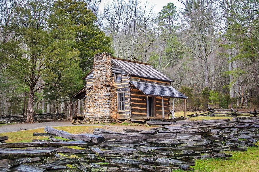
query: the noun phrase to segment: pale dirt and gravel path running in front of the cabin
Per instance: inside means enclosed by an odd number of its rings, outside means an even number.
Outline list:
[[[69,121],[56,121],[56,122],[40,122],[40,123],[16,123],[16,124],[7,124],[7,125],[0,125],[0,133],[5,132],[17,132],[21,130],[30,130],[30,129],[36,129],[36,128],[42,128],[45,126],[52,126],[52,127],[58,127],[58,126],[74,126]],[[113,124],[113,125],[100,125],[100,124],[80,124],[84,126],[105,126],[107,129],[113,130],[113,131],[122,131],[122,128],[131,128],[131,129],[138,129],[138,130],[150,130],[150,127],[146,127],[145,125],[136,126],[136,125],[119,125],[119,124]],[[79,125],[77,125],[79,126]]]

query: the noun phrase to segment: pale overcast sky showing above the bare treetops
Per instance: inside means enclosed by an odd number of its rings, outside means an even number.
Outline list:
[[[179,9],[179,7],[181,7],[181,3],[177,0],[171,0],[171,1],[170,0],[141,0],[141,3],[145,3],[146,1],[155,5],[154,11],[156,14],[158,12],[160,12],[162,7],[169,2],[174,3],[174,5],[177,7],[177,9]],[[99,10],[103,11],[104,5],[106,5],[107,3],[110,3],[110,2],[111,2],[111,0],[102,0],[102,2],[99,5]]]

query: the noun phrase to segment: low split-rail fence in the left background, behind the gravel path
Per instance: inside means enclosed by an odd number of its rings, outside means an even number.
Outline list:
[[[36,113],[33,118],[34,121],[56,121],[67,119],[68,115],[64,113]],[[26,119],[26,114],[1,115],[0,123],[24,122]]]

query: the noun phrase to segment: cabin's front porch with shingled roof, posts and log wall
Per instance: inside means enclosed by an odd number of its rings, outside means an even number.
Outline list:
[[[172,114],[174,114],[174,98],[184,99],[185,119],[187,97],[173,87],[145,82],[129,82],[132,109],[131,121],[170,119],[170,98],[173,98]],[[173,115],[172,118],[174,118]],[[172,121],[177,120],[179,119],[172,119]]]

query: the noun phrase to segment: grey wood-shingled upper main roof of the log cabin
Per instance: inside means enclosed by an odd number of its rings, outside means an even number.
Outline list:
[[[173,80],[147,63],[134,62],[124,59],[112,58],[113,63],[121,67],[132,76],[138,76],[154,80],[172,82]]]

